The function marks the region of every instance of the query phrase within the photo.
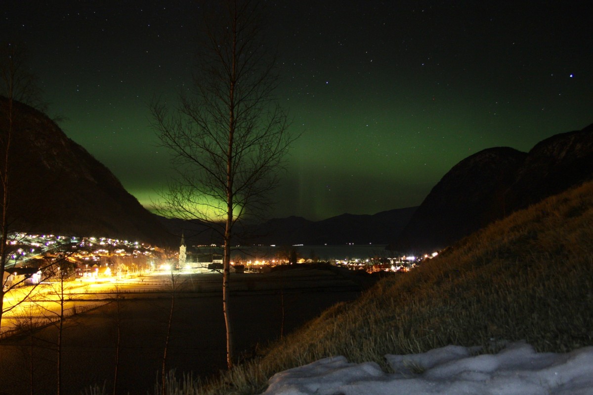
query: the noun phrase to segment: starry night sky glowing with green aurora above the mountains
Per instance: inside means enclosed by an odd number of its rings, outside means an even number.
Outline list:
[[[419,205],[482,149],[593,123],[588,1],[267,0],[276,94],[302,136],[270,217]],[[153,97],[191,83],[199,2],[2,2],[49,115],[150,207],[173,175]]]

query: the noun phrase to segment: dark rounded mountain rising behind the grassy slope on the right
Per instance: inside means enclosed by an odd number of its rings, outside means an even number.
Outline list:
[[[443,176],[390,248],[444,248],[592,177],[593,125],[556,134],[529,153],[509,147],[485,149],[461,160]]]

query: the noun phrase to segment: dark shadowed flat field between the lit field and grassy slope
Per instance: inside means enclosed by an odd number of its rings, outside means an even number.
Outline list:
[[[232,316],[237,354],[250,354],[258,344],[278,339],[282,316],[285,333],[288,333],[334,303],[359,295],[352,287],[328,289],[283,291],[284,311],[280,291],[236,293],[232,298]],[[148,390],[152,393],[157,372],[162,367],[171,308],[171,299],[166,294],[158,297],[122,301],[119,322],[114,303],[66,322],[62,394],[79,394],[91,384],[106,384],[109,391],[112,390],[118,326],[117,393],[146,394]],[[221,295],[179,294],[174,303],[167,370],[176,368],[178,375],[191,371],[194,377],[208,377],[224,370],[226,343]],[[31,383],[33,393],[57,392],[57,333],[54,327],[47,327],[33,333],[32,337],[7,339],[1,343],[0,393],[30,394]]]

